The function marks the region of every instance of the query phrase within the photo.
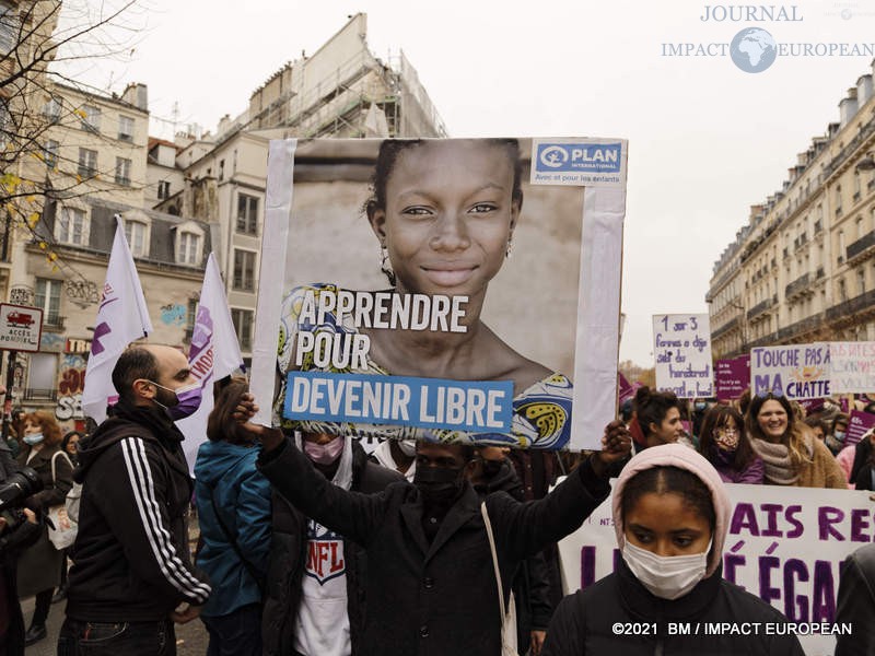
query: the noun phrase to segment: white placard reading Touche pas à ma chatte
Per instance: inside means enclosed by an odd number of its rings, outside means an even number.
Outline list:
[[[758,347],[750,351],[750,389],[791,400],[817,399],[831,394],[829,344]]]

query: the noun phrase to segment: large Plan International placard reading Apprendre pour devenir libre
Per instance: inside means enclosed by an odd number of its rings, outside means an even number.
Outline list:
[[[626,152],[592,139],[271,142],[256,420],[597,448],[617,398]]]

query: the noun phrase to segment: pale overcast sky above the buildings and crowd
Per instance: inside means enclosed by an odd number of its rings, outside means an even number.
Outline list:
[[[173,119],[176,105],[180,128],[214,131],[284,62],[363,11],[371,50],[404,50],[452,137],[628,139],[620,358],[643,366],[653,364],[651,316],[708,311],[714,260],[749,206],[780,189],[796,153],[838,120],[848,87],[872,72],[871,57],[852,56],[779,57],[747,73],[728,56],[663,56],[663,44],[728,44],[751,26],[779,43],[875,42],[872,0],[777,4],[802,20],[763,23],[702,21],[714,4],[690,0],[147,1],[133,51],[82,74],[105,91],[148,84],[153,116]]]

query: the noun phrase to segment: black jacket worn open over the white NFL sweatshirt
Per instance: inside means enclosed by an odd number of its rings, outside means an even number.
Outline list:
[[[404,477],[368,461],[364,449],[352,442],[352,485],[354,492],[372,494]],[[295,623],[301,606],[301,581],[307,558],[307,518],[276,491],[272,495],[272,535],[268,557],[267,590],[261,620],[265,656],[289,656],[294,653]],[[352,653],[364,630],[366,574],[364,550],[343,540],[347,576],[347,612],[349,614]]]

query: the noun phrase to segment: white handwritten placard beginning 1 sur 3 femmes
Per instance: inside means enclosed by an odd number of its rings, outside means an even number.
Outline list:
[[[714,396],[707,314],[654,315],[653,356],[657,389],[674,391],[682,399]]]

